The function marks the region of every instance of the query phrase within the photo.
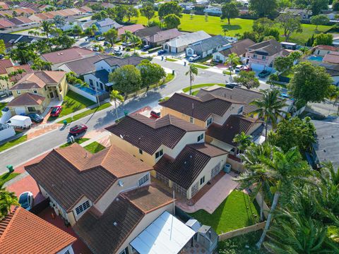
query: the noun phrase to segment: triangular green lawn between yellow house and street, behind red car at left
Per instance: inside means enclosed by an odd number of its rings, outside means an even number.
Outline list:
[[[67,95],[64,97],[62,111],[59,117],[66,116],[93,104],[95,104],[95,102],[92,102],[90,99],[87,99],[81,95],[78,95],[76,92],[69,90]]]

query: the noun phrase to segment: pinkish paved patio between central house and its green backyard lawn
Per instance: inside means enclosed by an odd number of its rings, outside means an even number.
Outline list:
[[[215,183],[194,205],[187,205],[184,201],[177,201],[176,205],[188,213],[196,212],[198,210],[205,210],[213,214],[222,201],[227,198],[230,193],[237,188],[239,183],[233,181],[232,178],[236,176],[233,172],[225,174]]]

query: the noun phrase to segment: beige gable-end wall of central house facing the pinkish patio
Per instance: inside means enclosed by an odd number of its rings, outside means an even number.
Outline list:
[[[201,173],[198,175],[198,177],[196,178],[196,181],[189,186],[189,188],[187,189],[187,195],[186,198],[187,199],[191,199],[191,188],[192,186],[194,186],[194,184],[198,183],[198,189],[201,190],[201,188],[203,188],[203,186],[206,185],[206,183],[208,183],[208,181],[210,181],[211,179],[211,172],[212,169],[220,162],[220,168],[222,170],[222,168],[224,167],[225,163],[227,160],[227,155],[220,155],[218,157],[213,157],[210,159],[210,161],[208,162],[208,164],[206,165],[206,167],[203,169],[203,171],[201,171]],[[205,181],[203,182],[203,184],[200,184],[200,179],[205,176]]]

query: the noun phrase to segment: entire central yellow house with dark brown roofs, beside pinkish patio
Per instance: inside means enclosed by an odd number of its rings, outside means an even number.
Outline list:
[[[112,133],[112,143],[154,166],[153,176],[189,199],[220,172],[227,159],[227,152],[204,143],[205,125],[170,114],[157,120],[141,114],[126,116],[106,129]]]

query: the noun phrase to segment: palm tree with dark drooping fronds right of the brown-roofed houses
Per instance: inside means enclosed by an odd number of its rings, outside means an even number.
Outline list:
[[[263,97],[251,102],[251,105],[256,106],[258,109],[251,112],[251,114],[258,114],[259,119],[265,121],[265,138],[267,139],[268,121],[272,123],[273,129],[276,126],[278,118],[283,118],[283,107],[286,106],[286,99],[280,99],[278,90],[261,90]]]

